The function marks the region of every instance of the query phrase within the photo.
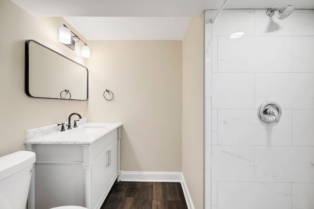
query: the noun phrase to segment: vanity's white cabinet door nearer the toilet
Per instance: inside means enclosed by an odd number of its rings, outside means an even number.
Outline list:
[[[92,209],[95,209],[98,205],[101,206],[100,200],[106,193],[106,182],[105,182],[105,172],[106,172],[106,153],[101,153],[96,159],[95,163],[92,165]],[[98,207],[97,207],[98,208]]]

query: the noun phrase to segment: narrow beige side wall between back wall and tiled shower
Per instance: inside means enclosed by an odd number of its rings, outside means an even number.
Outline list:
[[[204,208],[204,17],[183,38],[182,172],[195,209]]]

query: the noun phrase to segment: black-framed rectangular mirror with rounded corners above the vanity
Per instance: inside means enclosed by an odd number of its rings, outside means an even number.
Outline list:
[[[87,100],[88,69],[34,40],[25,43],[25,91],[30,97]]]

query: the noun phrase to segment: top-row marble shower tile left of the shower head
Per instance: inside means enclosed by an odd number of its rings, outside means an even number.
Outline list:
[[[213,10],[212,15],[216,12],[217,10]],[[253,9],[223,10],[219,19],[212,23],[213,36],[230,36],[236,32],[243,32],[246,36],[254,35]]]

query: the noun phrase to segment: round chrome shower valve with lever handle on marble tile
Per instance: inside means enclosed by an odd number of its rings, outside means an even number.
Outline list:
[[[281,107],[273,101],[263,102],[259,107],[258,116],[265,123],[278,123],[281,116]]]

